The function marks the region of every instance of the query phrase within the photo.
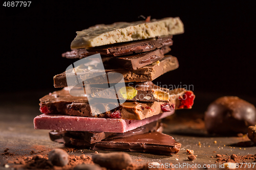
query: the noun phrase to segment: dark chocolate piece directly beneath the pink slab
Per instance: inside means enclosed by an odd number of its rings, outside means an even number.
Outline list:
[[[111,133],[111,132],[87,132],[87,131],[65,131],[73,136],[80,139],[84,139],[89,143],[100,142],[103,139],[114,139],[120,137],[129,137],[133,135],[143,134],[147,132],[162,132],[162,123],[159,121],[152,122],[150,124],[138,127],[134,130],[127,131],[124,133]]]

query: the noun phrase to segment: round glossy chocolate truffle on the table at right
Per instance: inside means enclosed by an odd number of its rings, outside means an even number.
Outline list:
[[[224,96],[208,106],[204,119],[209,133],[247,133],[256,124],[256,109],[236,96]]]

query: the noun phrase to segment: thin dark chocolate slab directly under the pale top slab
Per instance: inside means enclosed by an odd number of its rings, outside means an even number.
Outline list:
[[[173,45],[173,36],[155,37],[145,40],[138,40],[132,42],[115,43],[115,45],[103,45],[98,47],[92,47],[88,49],[77,49],[71,52],[62,54],[62,57],[66,58],[84,58],[94,54],[100,54],[103,56],[117,57],[123,55],[130,55],[133,53],[143,53],[156,50],[158,48]]]

